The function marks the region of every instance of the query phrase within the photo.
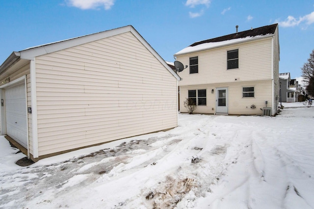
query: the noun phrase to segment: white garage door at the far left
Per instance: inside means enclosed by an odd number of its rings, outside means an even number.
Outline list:
[[[26,90],[21,83],[5,89],[6,134],[27,148]]]

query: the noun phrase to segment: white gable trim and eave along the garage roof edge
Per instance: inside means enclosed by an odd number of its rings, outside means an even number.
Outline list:
[[[33,46],[21,51],[13,51],[12,54],[1,64],[0,74],[8,70],[11,66],[15,65],[20,60],[34,60],[35,57],[49,54],[62,49],[70,48],[86,44],[89,42],[97,41],[100,39],[108,38],[111,36],[119,35],[122,33],[131,32],[156,58],[157,60],[175,77],[181,80],[180,76],[174,72],[161,56],[150,46],[146,40],[134,29],[132,25],[106,30],[103,32],[93,33],[85,36],[80,36],[72,39],[62,40],[40,46]]]

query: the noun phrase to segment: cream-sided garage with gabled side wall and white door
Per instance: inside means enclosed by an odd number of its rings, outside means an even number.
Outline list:
[[[1,135],[38,161],[174,128],[178,80],[131,25],[13,52],[0,66]]]

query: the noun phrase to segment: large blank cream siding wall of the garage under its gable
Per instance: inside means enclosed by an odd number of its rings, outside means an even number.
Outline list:
[[[36,57],[39,156],[177,126],[177,80],[130,32]]]

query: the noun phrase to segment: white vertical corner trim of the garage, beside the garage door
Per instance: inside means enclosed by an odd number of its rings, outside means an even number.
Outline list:
[[[31,121],[33,139],[33,158],[38,158],[38,121],[37,121],[37,93],[36,93],[36,67],[35,57],[30,60],[30,97],[31,97]]]

